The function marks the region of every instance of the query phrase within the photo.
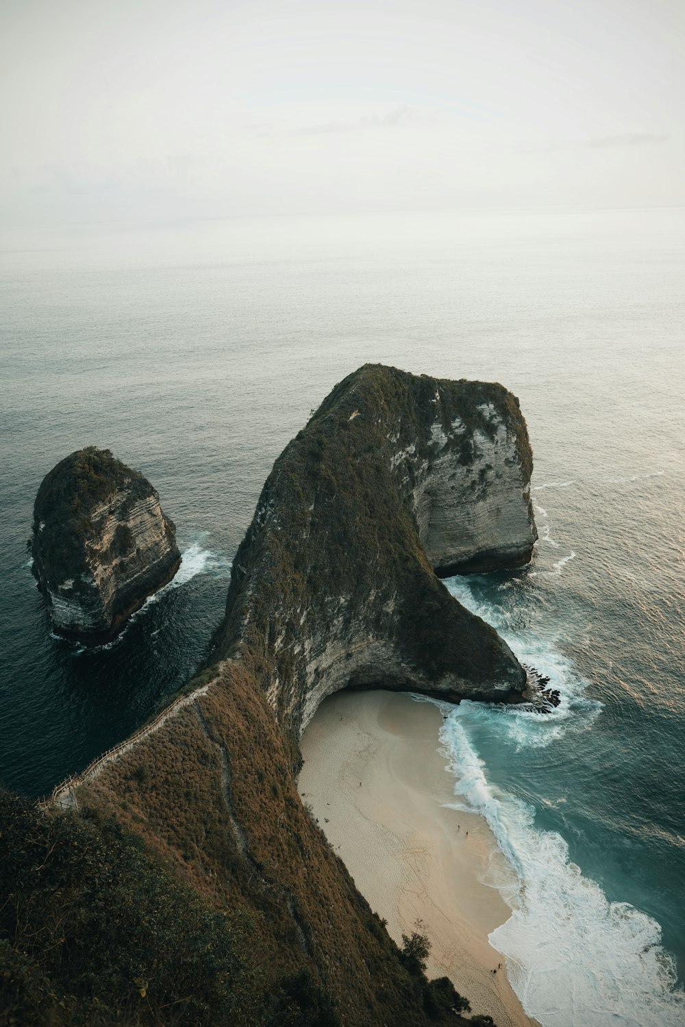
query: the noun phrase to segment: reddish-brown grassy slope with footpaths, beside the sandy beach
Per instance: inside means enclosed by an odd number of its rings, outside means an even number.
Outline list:
[[[79,805],[237,918],[255,1025],[465,1022],[459,996],[450,1004],[443,984],[408,967],[307,814],[299,750],[254,672],[239,660],[205,673],[210,692],[79,789]]]

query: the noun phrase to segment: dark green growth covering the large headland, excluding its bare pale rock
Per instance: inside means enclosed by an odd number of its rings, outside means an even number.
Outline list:
[[[437,453],[436,414],[447,440],[441,452],[452,449],[455,466],[472,458],[473,432],[492,436],[503,421],[520,440],[525,484],[532,466],[526,425],[501,385],[368,365],[333,389],[264,486],[234,561],[213,658],[250,654],[265,688],[277,677],[277,712],[296,734],[307,689],[299,643],[303,633],[330,634],[330,597],[344,598],[336,610],[341,635],[396,647],[406,668],[397,687],[437,692],[447,676],[477,694],[493,680],[510,681],[512,691],[525,686],[497,633],[435,578],[419,537],[413,490]],[[405,456],[394,471],[397,454]],[[384,682],[392,687],[388,675]]]

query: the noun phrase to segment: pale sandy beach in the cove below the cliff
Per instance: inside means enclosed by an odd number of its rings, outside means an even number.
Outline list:
[[[429,977],[450,977],[497,1027],[537,1025],[488,943],[510,910],[487,882],[512,875],[483,819],[444,805],[454,781],[441,722],[436,707],[408,695],[331,696],[302,737],[300,793],[392,938],[428,936]]]

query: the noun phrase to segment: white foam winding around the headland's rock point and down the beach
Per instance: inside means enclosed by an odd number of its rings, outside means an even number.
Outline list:
[[[583,696],[584,682],[554,640],[507,631],[505,611],[477,601],[468,581],[447,584],[497,627],[520,659],[547,675],[562,696],[545,716],[462,701],[441,731],[457,779],[455,807],[486,819],[518,878],[515,893],[508,880],[491,882],[512,913],[489,939],[506,956],[515,991],[543,1027],[682,1027],[685,994],[675,990],[675,967],[660,946],[658,923],[626,903],[610,903],[583,877],[561,835],[537,830],[531,805],[488,782],[471,743],[487,728],[518,750],[547,746],[569,729],[589,726],[601,703]]]

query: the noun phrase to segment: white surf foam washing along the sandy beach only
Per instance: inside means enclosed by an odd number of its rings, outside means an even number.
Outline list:
[[[486,819],[517,873],[516,897],[509,882],[500,888],[511,916],[489,941],[506,956],[527,1014],[543,1027],[682,1027],[685,994],[674,990],[658,923],[627,903],[610,903],[570,862],[561,835],[535,829],[532,806],[488,783],[468,737],[474,706],[452,711],[441,740],[462,800],[455,808]]]

